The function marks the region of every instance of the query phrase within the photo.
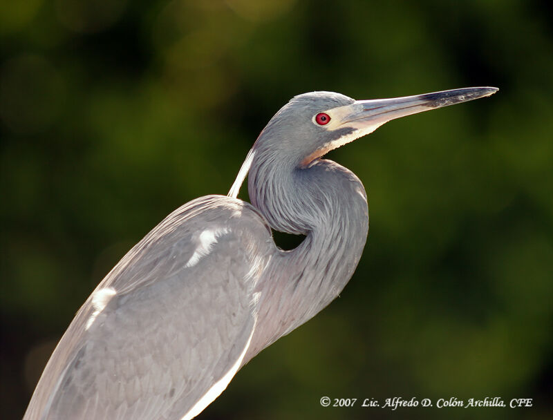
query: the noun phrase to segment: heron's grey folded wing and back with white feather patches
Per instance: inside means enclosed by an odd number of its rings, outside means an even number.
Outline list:
[[[24,419],[203,410],[242,363],[254,287],[274,251],[263,218],[241,200],[209,195],[171,213],[79,309]]]

